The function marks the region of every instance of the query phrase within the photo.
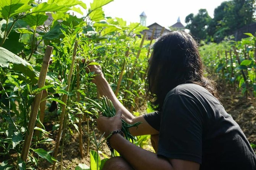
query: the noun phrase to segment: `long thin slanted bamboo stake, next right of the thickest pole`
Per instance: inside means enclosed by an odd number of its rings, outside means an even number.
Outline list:
[[[69,73],[68,73],[68,85],[67,85],[67,87],[66,87],[66,91],[69,91],[69,87],[70,87],[70,81],[71,81],[72,71],[73,71],[74,64],[75,64],[75,57],[76,57],[77,44],[78,44],[78,42],[75,41],[75,44],[74,44],[74,51],[73,51],[73,56],[72,56],[72,63],[71,63],[70,71],[69,71]],[[68,95],[63,94],[63,96],[62,96],[62,102],[64,102],[64,103],[66,104],[67,99],[68,99]],[[61,135],[62,135],[62,127],[63,127],[64,118],[65,118],[65,112],[66,112],[66,105],[63,105],[63,104],[62,104],[62,113],[61,113],[61,115],[60,115],[60,126],[59,126],[59,130],[58,130],[58,136],[57,136],[57,140],[56,140],[56,146],[55,146],[55,149],[54,149],[54,151],[53,151],[53,157],[54,157],[55,159],[57,159],[58,148],[59,148],[59,145],[60,145],[60,138],[61,138]],[[56,162],[53,162],[52,170],[55,170],[55,164],[56,164]]]

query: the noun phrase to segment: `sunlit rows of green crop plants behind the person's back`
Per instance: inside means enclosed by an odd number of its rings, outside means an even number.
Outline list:
[[[219,44],[201,46],[200,53],[208,73],[220,78],[224,83],[233,86],[238,84],[237,88],[241,89],[242,94],[249,92],[253,98],[256,94],[256,39],[251,33],[245,34],[249,37],[241,41],[226,39]]]

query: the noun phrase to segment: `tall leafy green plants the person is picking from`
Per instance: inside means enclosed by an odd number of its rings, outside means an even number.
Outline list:
[[[69,142],[68,137],[73,135],[71,128],[78,130],[76,124],[80,115],[95,120],[95,109],[86,102],[87,98],[96,98],[97,89],[91,83],[93,73],[87,73],[88,64],[81,62],[77,63],[78,71],[70,70],[75,41],[78,41],[77,59],[96,60],[91,64],[101,65],[114,91],[123,70],[118,95],[120,102],[126,106],[135,105],[134,96],[144,101],[149,41],[144,43],[146,45],[141,49],[139,59],[136,59],[141,42],[136,35],[147,28],[139,23],[126,25],[121,18],[106,18],[102,6],[110,2],[112,0],[94,0],[87,9],[80,0],[48,0],[40,4],[34,0],[0,1],[0,149],[4,151],[1,156],[6,159],[1,163],[1,168],[33,169],[41,160],[50,163],[57,161],[50,156],[52,151],[42,149],[42,146],[52,144],[52,139],[47,137],[52,132],[44,128],[39,115],[34,129],[42,134],[33,136],[28,161],[25,163],[21,160],[29,114],[38,92],[46,91],[47,97],[41,100],[47,103],[46,113],[50,112],[50,105],[56,107],[55,111],[45,116],[45,119],[55,122],[52,130],[59,128],[60,110],[66,106],[65,142]],[[86,15],[79,18],[67,13],[68,10],[81,13],[75,5],[87,9]],[[49,65],[45,86],[37,88],[45,45],[53,46],[52,64]],[[125,56],[128,49],[129,55]],[[70,90],[66,91],[69,71],[73,75]],[[132,78],[131,71],[134,71]],[[79,89],[76,87],[76,75],[79,75]],[[76,98],[78,92],[81,94],[79,101]],[[64,94],[68,95],[66,104],[62,101]],[[90,133],[88,135],[92,137]],[[100,142],[94,142],[97,151],[104,142],[102,137]],[[17,157],[13,159],[10,152],[15,152]],[[92,157],[94,160],[97,158],[95,153]],[[100,160],[100,164],[97,161],[97,168],[102,169],[105,160]],[[77,168],[87,167],[81,165]]]

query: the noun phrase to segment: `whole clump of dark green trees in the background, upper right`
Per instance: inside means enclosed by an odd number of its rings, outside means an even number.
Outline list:
[[[197,38],[219,43],[237,29],[255,22],[255,9],[255,0],[225,1],[214,9],[212,19],[204,9],[186,16],[186,28]]]

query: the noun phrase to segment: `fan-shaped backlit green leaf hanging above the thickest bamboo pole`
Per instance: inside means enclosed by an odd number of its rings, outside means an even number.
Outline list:
[[[45,13],[33,13],[26,16],[23,20],[35,30],[39,25],[43,25],[47,18],[48,15],[45,15]]]

